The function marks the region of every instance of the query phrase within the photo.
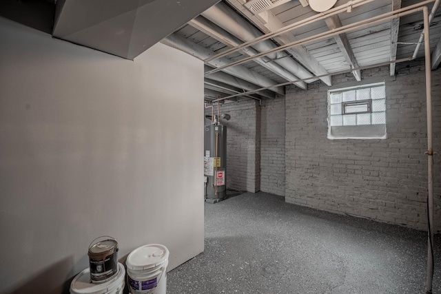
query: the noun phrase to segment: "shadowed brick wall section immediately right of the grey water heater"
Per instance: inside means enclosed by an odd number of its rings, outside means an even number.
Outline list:
[[[222,121],[227,126],[227,189],[259,191],[260,107],[253,100],[225,103],[220,105],[224,113],[231,116]],[[211,109],[205,114],[211,115]]]

